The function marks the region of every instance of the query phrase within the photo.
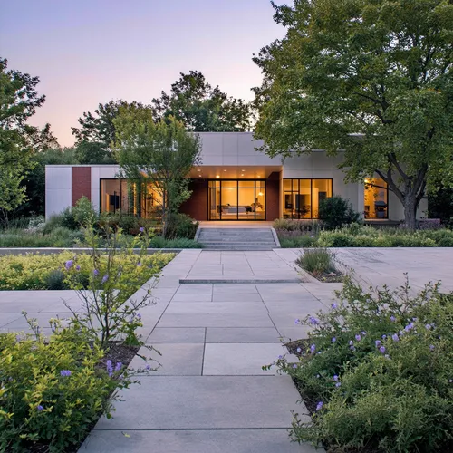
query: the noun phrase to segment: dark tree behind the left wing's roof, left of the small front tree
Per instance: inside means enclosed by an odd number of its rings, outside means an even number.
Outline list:
[[[77,156],[82,164],[114,163],[111,155],[111,143],[115,140],[113,120],[121,107],[143,107],[140,102],[128,102],[119,99],[99,104],[92,113],[84,111],[79,118],[80,128],[71,128],[75,136]]]

